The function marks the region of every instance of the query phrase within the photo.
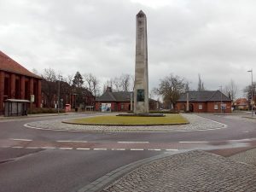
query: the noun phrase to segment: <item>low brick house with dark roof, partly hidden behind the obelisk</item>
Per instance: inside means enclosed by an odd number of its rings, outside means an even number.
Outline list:
[[[104,108],[106,106],[106,111],[128,112],[131,110],[131,98],[133,100],[132,91],[113,92],[112,89],[108,87],[102,96],[96,98],[96,111],[102,111],[102,106]],[[149,98],[149,110],[157,110],[158,107],[158,102]]]

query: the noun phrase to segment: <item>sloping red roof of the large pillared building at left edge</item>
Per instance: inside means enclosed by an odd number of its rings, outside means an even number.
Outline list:
[[[41,79],[38,75],[31,73],[25,67],[22,67],[19,63],[11,59],[8,55],[5,55],[0,50],[0,70],[10,73],[17,73],[32,78]]]

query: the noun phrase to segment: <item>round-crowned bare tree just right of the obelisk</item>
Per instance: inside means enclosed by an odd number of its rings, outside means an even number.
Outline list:
[[[184,79],[173,74],[166,76],[165,79],[160,79],[159,87],[154,89],[155,93],[163,96],[163,101],[169,104],[169,108],[171,106],[175,108],[176,102],[184,90]]]

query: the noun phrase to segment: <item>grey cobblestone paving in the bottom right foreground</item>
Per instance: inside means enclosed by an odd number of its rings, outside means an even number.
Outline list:
[[[191,151],[140,166],[102,192],[255,192],[255,169],[215,154]]]

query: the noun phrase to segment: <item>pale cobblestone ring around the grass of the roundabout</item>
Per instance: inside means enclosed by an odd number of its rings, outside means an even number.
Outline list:
[[[106,126],[106,125],[71,125],[61,123],[60,119],[32,122],[27,125],[44,129],[77,131],[195,131],[223,128],[224,125],[205,119],[195,114],[182,114],[188,119],[188,125],[154,125],[154,126]]]

